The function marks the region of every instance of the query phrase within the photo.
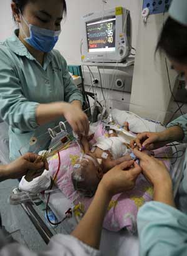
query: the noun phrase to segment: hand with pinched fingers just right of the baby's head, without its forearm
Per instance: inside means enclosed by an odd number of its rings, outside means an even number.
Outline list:
[[[135,161],[124,161],[105,173],[99,186],[110,196],[132,190],[140,173],[141,168]]]

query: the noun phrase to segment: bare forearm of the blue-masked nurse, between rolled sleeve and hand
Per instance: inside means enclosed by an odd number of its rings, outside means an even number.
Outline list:
[[[36,121],[38,125],[45,125],[50,121],[63,116],[63,108],[69,103],[55,102],[49,104],[40,104],[36,109]]]

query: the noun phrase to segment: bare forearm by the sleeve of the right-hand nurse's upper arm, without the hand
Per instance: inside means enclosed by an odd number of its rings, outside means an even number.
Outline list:
[[[181,141],[185,133],[180,126],[173,126],[161,132],[162,141]]]

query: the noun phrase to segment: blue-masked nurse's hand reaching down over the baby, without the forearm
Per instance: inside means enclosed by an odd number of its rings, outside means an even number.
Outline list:
[[[73,101],[72,104],[64,103],[62,115],[68,121],[75,133],[85,136],[89,134],[89,119],[82,111],[80,103],[77,103],[77,101]]]

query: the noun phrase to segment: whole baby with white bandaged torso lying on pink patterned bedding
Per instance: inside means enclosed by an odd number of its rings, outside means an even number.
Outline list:
[[[123,129],[128,131],[128,123]],[[135,156],[123,138],[115,130],[108,130],[108,138],[100,138],[90,148],[86,137],[80,138],[84,155],[74,165],[72,182],[75,190],[85,197],[92,197],[103,175],[123,161],[134,160]]]

